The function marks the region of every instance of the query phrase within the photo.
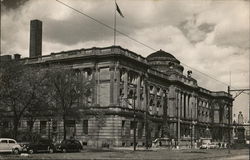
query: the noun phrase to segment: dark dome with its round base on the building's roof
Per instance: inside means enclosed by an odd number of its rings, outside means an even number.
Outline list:
[[[182,74],[184,70],[178,59],[163,50],[156,51],[147,56],[147,61],[154,69],[165,73],[169,71],[176,71]]]

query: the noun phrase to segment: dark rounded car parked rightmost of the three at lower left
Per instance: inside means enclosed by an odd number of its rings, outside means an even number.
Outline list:
[[[69,151],[78,151],[82,149],[82,145],[78,140],[75,139],[66,139],[55,145],[56,151],[59,152],[69,152]]]

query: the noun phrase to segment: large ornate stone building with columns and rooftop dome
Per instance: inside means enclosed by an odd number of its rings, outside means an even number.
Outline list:
[[[231,95],[199,87],[191,72],[184,75],[180,61],[163,50],[144,58],[120,46],[94,47],[21,60],[25,64],[67,65],[94,82],[85,104],[105,111],[103,125],[91,116],[67,124],[68,135],[84,144],[133,145],[136,125],[137,143],[143,145],[146,123],[150,141],[163,131],[178,145],[207,136],[228,141]],[[21,126],[27,122],[23,120]],[[57,140],[63,138],[60,119],[40,118],[35,130]]]

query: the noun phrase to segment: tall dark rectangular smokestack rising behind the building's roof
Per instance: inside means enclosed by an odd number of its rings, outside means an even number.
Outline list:
[[[30,57],[42,55],[42,21],[30,21]]]

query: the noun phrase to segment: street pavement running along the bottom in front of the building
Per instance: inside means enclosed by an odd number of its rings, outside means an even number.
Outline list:
[[[249,150],[238,149],[231,150],[228,154],[227,149],[214,150],[169,150],[166,148],[150,149],[148,151],[141,149],[136,152],[129,149],[110,149],[97,150],[85,149],[80,153],[39,153],[32,155],[12,155],[1,154],[0,159],[175,159],[175,160],[248,160]]]

